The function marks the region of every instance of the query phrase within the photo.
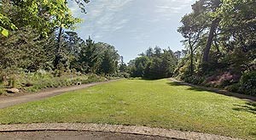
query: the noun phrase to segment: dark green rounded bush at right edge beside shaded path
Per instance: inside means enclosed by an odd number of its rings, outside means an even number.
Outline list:
[[[248,95],[256,95],[256,71],[245,72],[241,76],[241,90]]]

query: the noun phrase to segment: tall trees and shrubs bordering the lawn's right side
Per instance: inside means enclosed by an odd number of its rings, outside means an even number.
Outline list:
[[[179,61],[175,76],[195,84],[196,77],[203,76],[206,81],[199,83],[205,86],[253,95],[238,82],[245,71],[256,70],[255,11],[253,0],[195,2],[177,30],[187,55]]]

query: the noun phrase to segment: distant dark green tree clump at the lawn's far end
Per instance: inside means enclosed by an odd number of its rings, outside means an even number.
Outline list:
[[[177,64],[177,58],[170,48],[148,48],[146,54],[131,60],[128,67],[132,77],[160,79],[171,77]]]

